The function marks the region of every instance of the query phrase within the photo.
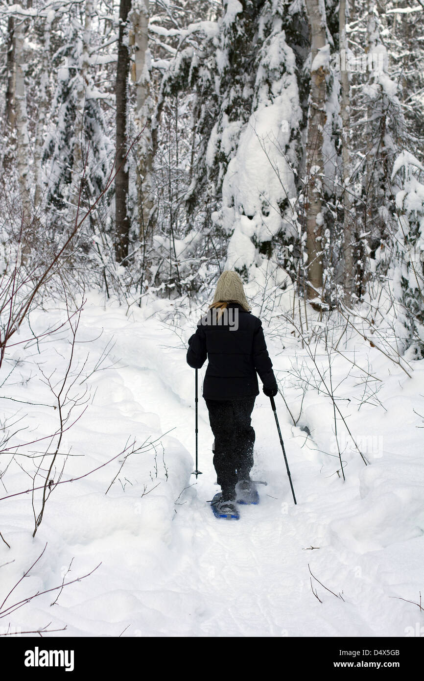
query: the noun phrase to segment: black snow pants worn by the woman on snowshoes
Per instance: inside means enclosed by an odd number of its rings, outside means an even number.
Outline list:
[[[214,467],[218,485],[232,493],[238,480],[248,477],[253,466],[255,430],[250,417],[255,396],[242,400],[205,400],[215,438]]]

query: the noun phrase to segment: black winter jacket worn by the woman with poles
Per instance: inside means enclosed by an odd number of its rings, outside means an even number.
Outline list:
[[[211,315],[206,315],[189,338],[187,363],[199,369],[208,357],[203,381],[206,400],[237,400],[258,395],[257,373],[265,387],[276,386],[261,320],[238,303],[229,303],[227,307],[233,308],[227,318],[223,317],[227,323],[211,323]],[[233,319],[238,323],[237,329],[235,324],[231,328]]]

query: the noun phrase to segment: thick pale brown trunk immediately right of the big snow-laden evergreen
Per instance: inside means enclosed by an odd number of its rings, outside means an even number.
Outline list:
[[[323,127],[327,120],[325,102],[327,84],[325,76],[329,66],[314,65],[319,50],[327,44],[324,3],[306,0],[306,11],[311,33],[312,66],[310,74],[310,103],[308,111],[308,137],[306,142],[306,167],[308,170],[308,196],[306,203],[306,247],[308,249],[308,298],[322,296],[323,287]]]

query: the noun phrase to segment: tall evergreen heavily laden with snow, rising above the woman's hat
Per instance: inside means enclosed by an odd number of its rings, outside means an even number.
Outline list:
[[[276,237],[299,238],[293,204],[301,108],[295,53],[284,30],[290,21],[287,7],[228,3],[216,51],[222,104],[206,164],[217,188],[222,183],[222,208],[212,221],[230,236],[225,268],[260,286],[287,281]]]

